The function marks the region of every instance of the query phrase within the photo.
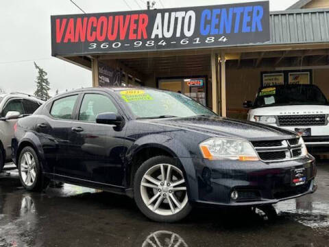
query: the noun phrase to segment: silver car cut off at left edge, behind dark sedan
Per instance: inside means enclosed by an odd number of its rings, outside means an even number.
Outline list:
[[[17,119],[31,115],[41,104],[40,99],[23,93],[0,95],[0,172],[6,162],[12,161],[11,143]]]

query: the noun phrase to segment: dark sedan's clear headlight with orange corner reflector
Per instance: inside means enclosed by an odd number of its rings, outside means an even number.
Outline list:
[[[204,158],[209,160],[259,160],[254,147],[249,141],[215,137],[200,143],[199,146]]]

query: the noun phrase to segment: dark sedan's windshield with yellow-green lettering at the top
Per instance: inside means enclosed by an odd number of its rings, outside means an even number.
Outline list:
[[[128,89],[117,92],[136,118],[215,115],[193,99],[170,91]]]

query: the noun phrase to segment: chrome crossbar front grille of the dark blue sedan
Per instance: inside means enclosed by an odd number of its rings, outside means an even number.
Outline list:
[[[262,161],[287,161],[302,156],[299,138],[277,141],[252,141]]]

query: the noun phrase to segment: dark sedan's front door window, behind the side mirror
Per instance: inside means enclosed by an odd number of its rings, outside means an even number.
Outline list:
[[[99,113],[118,113],[112,100],[105,95],[89,93],[84,95],[79,113],[80,121],[95,122]]]

